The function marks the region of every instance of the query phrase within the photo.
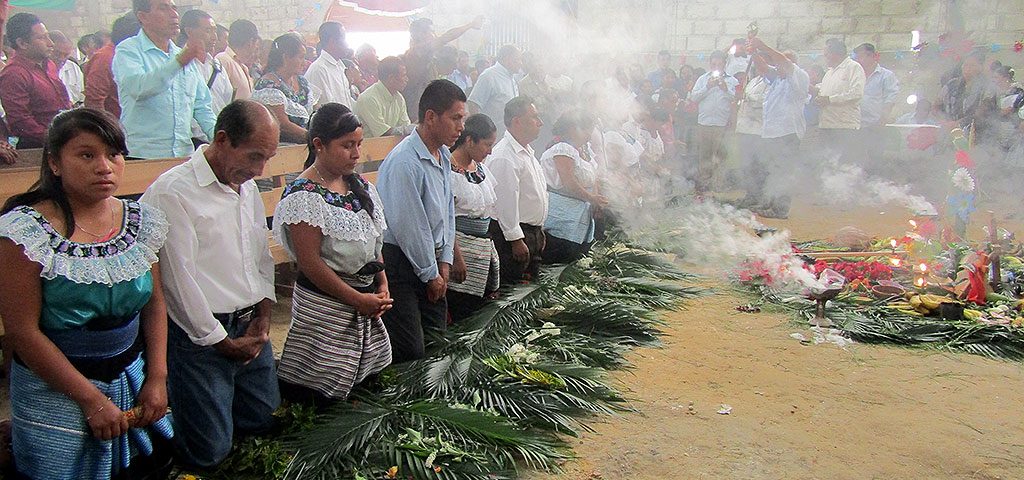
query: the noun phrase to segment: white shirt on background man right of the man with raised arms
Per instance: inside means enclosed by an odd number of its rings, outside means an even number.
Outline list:
[[[860,98],[864,96],[864,68],[847,57],[821,78],[818,96],[828,97],[821,107],[819,128],[860,128]]]

